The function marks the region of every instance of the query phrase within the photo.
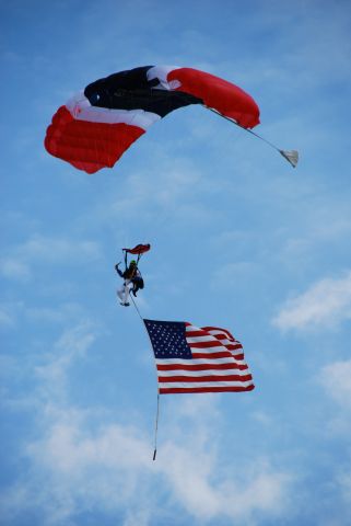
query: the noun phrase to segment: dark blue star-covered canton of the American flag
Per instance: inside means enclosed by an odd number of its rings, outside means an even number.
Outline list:
[[[183,321],[144,320],[156,358],[191,359]]]

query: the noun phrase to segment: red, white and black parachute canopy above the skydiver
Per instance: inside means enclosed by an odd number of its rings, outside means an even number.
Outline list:
[[[244,128],[259,124],[254,99],[231,82],[192,68],[144,66],[96,80],[60,106],[45,148],[79,170],[112,168],[149,126],[202,104]]]

